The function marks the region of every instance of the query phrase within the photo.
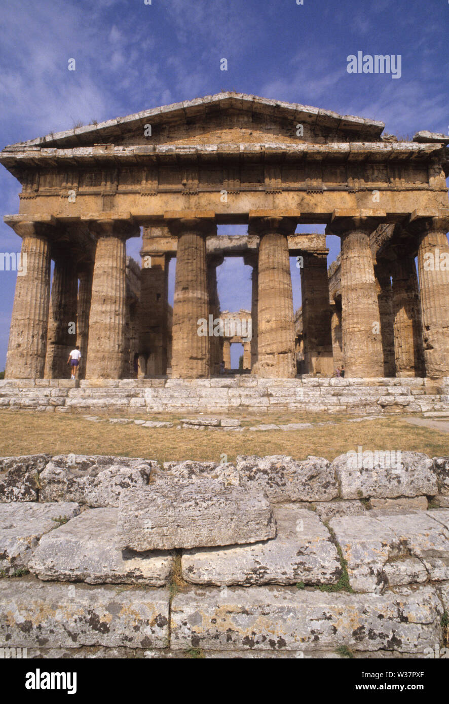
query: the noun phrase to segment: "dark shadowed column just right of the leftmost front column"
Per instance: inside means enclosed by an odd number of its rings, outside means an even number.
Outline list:
[[[54,258],[54,271],[44,377],[64,379],[70,375],[67,359],[77,339],[78,275],[76,261],[70,250],[57,247],[51,251],[51,255]]]

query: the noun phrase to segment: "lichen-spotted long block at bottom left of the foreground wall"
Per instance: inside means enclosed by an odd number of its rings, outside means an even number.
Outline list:
[[[168,589],[0,580],[0,646],[165,648]]]

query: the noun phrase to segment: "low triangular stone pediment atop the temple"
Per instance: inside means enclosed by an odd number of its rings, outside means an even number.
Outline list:
[[[149,134],[151,128],[151,135]],[[377,142],[383,122],[338,115],[321,108],[259,98],[241,93],[219,93],[183,103],[153,108],[97,125],[20,142],[8,150],[114,144],[216,145],[298,144],[312,142]]]

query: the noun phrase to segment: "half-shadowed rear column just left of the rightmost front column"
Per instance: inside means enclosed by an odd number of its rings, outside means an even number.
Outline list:
[[[396,376],[421,377],[424,375],[424,351],[414,257],[395,260],[392,273]]]

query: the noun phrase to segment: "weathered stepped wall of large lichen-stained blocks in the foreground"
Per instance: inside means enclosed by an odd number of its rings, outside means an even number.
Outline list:
[[[0,458],[0,648],[30,658],[433,657],[449,638],[449,458],[383,460]],[[118,547],[123,507],[133,496],[152,503],[170,483],[175,503],[186,487],[209,487],[213,510],[239,492],[262,496],[276,535],[220,544],[226,513],[216,546],[184,549],[181,536],[173,550]]]

